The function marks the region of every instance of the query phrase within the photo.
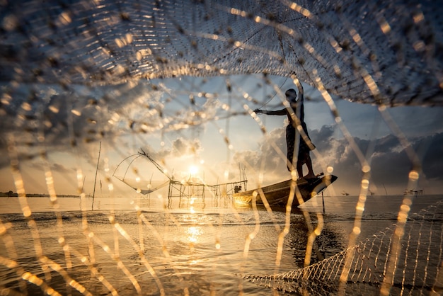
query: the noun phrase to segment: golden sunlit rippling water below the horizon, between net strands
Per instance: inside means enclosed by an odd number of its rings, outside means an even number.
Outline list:
[[[54,271],[42,271],[45,265],[38,261],[35,251],[38,244],[44,256],[67,270],[71,278],[79,281],[93,295],[108,292],[97,276],[91,275],[93,267],[120,295],[136,292],[127,274],[131,274],[148,295],[159,293],[155,277],[163,283],[167,295],[183,294],[184,290],[188,290],[190,295],[209,295],[211,292],[237,295],[240,291],[270,295],[272,290],[260,288],[238,275],[284,273],[303,266],[308,229],[301,210],[294,210],[291,215],[291,227],[284,240],[280,267],[277,268],[278,235],[285,221],[282,210],[270,213],[259,208],[257,216],[248,207],[236,209],[225,207],[226,204],[214,207],[207,200],[205,206],[193,203],[191,211],[190,207],[180,207],[183,203],[178,201],[165,208],[163,202],[159,203],[157,199],[139,198],[134,199],[141,209],[137,213],[132,210],[134,207],[130,200],[96,198],[94,210],[81,211],[79,198],[59,198],[60,227],[48,198],[28,198],[38,229],[38,243],[20,213],[16,198],[0,198],[3,212],[0,217],[3,223],[10,223],[7,232],[13,239],[16,262],[25,271],[47,280],[52,288],[63,294],[69,292],[66,278]],[[313,256],[312,263],[346,248],[356,200],[355,197],[325,198],[325,226],[316,239],[318,253]],[[87,201],[86,205],[90,207],[92,201]],[[422,197],[417,200],[416,207],[434,202],[434,198]],[[380,209],[381,203],[384,204],[383,209]],[[369,198],[362,227],[364,235],[374,234],[395,222],[400,203],[400,197],[389,200]],[[315,213],[323,211],[319,204],[306,203],[302,206],[311,212],[313,223],[316,222]],[[115,211],[110,212],[113,209]],[[117,232],[110,223],[110,217],[125,230],[130,240]],[[255,231],[257,222],[260,228],[246,250],[246,239]],[[65,246],[69,246],[69,254],[59,244],[61,236],[66,241]],[[10,257],[11,248],[1,244],[0,256]],[[143,258],[155,271],[155,277],[146,269]],[[8,288],[18,289],[16,273],[11,273],[5,266],[0,267],[0,282]],[[42,293],[29,284],[28,292],[33,295]]]

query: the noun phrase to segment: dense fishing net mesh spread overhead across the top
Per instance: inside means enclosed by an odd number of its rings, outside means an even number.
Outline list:
[[[119,84],[297,73],[342,98],[441,104],[432,1],[17,1],[2,4],[1,80]]]

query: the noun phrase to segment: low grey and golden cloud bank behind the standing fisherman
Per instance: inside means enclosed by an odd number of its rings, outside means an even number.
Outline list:
[[[318,173],[323,167],[332,166],[333,173],[339,176],[344,186],[359,186],[363,175],[362,164],[347,140],[335,137],[334,129],[329,125],[311,130],[309,135],[321,154],[318,159],[311,152],[314,171]],[[396,136],[387,135],[375,140],[354,137],[354,140],[363,155],[369,154],[372,182],[376,186],[406,186],[413,161]],[[427,137],[412,137],[408,141],[420,160],[424,177],[443,181],[443,132]],[[283,128],[273,130],[263,138],[259,151],[237,152],[234,161],[244,161],[254,171],[265,172],[265,178],[269,181],[282,181],[290,175],[286,171],[285,159],[276,152],[275,147],[286,155]],[[262,161],[264,164],[261,164]]]

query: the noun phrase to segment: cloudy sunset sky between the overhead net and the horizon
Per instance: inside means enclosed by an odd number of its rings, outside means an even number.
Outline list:
[[[111,187],[117,196],[134,193],[113,174],[162,183],[165,176],[146,159],[123,161],[139,149],[149,152],[174,178],[186,178],[192,167],[196,178],[209,184],[224,183],[238,181],[244,170],[248,189],[256,188],[260,183],[290,178],[284,162],[287,119],[258,115],[263,129],[251,110],[282,108],[282,93],[289,88],[297,89],[292,79],[258,74],[185,76],[115,86],[111,91],[79,86],[76,93],[68,94],[52,86],[42,91],[40,104],[28,110],[23,111],[20,102],[11,104],[8,114],[19,120],[1,123],[0,149],[3,155],[11,153],[6,138],[14,135],[27,193],[47,193],[48,171],[58,194],[76,195],[83,188],[86,194],[107,196]],[[332,170],[338,176],[326,194],[359,194],[362,166],[343,132],[350,133],[372,165],[372,192],[403,193],[412,168],[405,152],[408,145],[422,169],[418,188],[413,189],[442,192],[443,108],[394,107],[386,108],[382,115],[377,106],[334,98],[343,121],[340,127],[320,93],[307,84],[304,89],[305,121],[316,145],[311,152],[314,171]],[[394,124],[386,124],[386,118]],[[399,140],[402,137],[407,144]],[[73,138],[76,145],[71,144]],[[47,161],[41,155],[47,155]],[[8,157],[2,157],[3,192],[16,191],[10,164]]]

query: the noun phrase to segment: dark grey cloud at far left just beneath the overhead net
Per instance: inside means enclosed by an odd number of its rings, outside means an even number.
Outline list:
[[[8,89],[4,86],[4,89]],[[108,147],[119,147],[122,135],[143,135],[161,130],[169,118],[161,117],[159,110],[162,91],[149,83],[137,85],[86,87],[71,85],[33,85],[20,89],[11,87],[11,101],[4,102],[0,113],[0,153],[7,155],[6,135],[13,135],[20,161],[45,152],[87,152],[88,143],[106,142]],[[6,159],[7,160],[7,159]],[[0,167],[8,161],[0,161]]]

